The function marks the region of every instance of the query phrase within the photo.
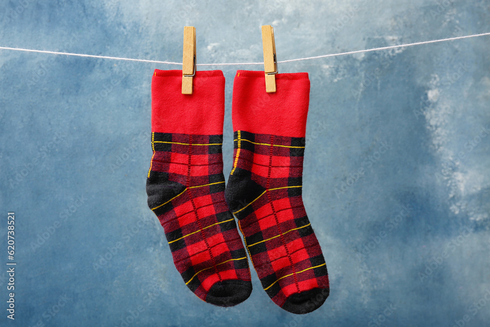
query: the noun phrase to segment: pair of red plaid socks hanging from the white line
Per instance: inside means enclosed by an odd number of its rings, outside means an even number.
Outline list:
[[[266,93],[264,72],[235,76],[234,158],[225,187],[223,73],[197,71],[193,94],[183,95],[182,71],[155,70],[148,206],[175,267],[201,300],[233,306],[250,296],[246,248],[270,299],[303,314],[329,294],[301,197],[310,81],[307,73],[275,78],[277,91]]]

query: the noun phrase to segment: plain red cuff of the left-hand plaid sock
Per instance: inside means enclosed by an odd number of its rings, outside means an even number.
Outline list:
[[[182,71],[156,69],[151,80],[151,131],[223,134],[224,75],[196,71],[193,94],[182,94]]]

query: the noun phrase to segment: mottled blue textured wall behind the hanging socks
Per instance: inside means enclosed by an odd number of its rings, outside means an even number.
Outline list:
[[[279,60],[490,31],[486,0],[3,0],[0,13],[1,46],[177,62],[194,25],[199,63],[261,61],[268,24]],[[303,197],[331,294],[305,316],[253,270],[228,309],[182,282],[146,204],[155,68],[178,69],[0,50],[1,326],[488,326],[489,37],[279,66],[312,81]],[[226,176],[233,77],[261,67],[220,68]]]

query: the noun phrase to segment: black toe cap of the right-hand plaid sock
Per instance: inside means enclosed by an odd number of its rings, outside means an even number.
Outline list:
[[[281,307],[291,313],[309,313],[318,309],[325,302],[329,293],[329,288],[314,288],[296,293],[288,297]]]

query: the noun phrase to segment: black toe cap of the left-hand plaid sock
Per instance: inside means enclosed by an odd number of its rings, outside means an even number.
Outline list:
[[[211,286],[205,301],[218,306],[234,306],[248,299],[251,293],[250,281],[223,280]]]

